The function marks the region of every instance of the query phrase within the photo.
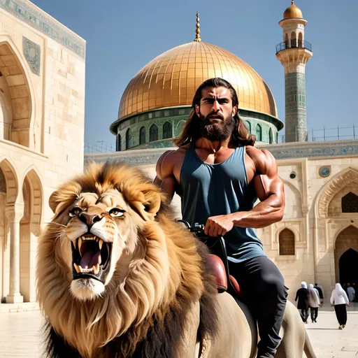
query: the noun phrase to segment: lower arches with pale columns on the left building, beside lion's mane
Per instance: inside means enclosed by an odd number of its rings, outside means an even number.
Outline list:
[[[5,159],[0,162],[0,295],[1,302],[34,302],[37,237],[43,189],[31,169],[20,180]]]

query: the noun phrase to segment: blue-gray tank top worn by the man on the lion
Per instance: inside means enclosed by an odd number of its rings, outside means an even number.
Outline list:
[[[190,143],[180,171],[182,218],[189,224],[206,224],[208,217],[251,210],[257,197],[248,185],[245,147],[222,163],[207,164],[196,155]],[[266,256],[255,229],[233,227],[224,235],[231,262]]]

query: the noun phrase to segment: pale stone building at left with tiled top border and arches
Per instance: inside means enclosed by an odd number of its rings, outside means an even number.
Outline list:
[[[0,297],[36,301],[48,198],[83,169],[85,41],[27,0],[0,0]],[[2,306],[2,305],[0,305]]]

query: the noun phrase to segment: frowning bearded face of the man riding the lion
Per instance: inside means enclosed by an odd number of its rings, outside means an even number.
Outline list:
[[[210,141],[222,141],[231,136],[234,129],[234,115],[231,93],[226,87],[206,87],[201,92],[200,106],[195,106],[201,123],[201,136]]]

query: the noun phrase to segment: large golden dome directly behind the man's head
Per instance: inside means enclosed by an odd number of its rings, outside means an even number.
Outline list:
[[[145,65],[124,90],[118,117],[191,106],[199,85],[213,77],[233,85],[239,108],[277,117],[273,95],[257,72],[231,52],[203,41],[172,48]]]

